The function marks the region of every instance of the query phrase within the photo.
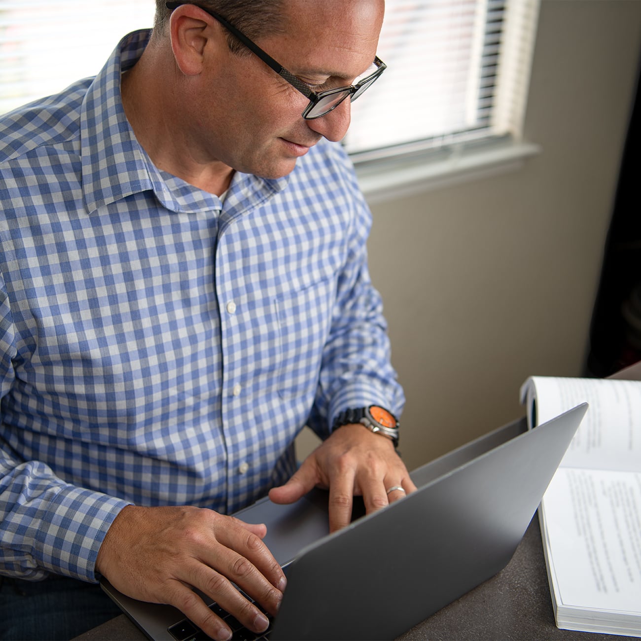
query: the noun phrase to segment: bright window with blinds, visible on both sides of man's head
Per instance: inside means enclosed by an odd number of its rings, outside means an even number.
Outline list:
[[[519,140],[539,0],[387,0],[383,78],[354,103],[357,165]],[[153,0],[0,0],[0,112],[96,74]]]

